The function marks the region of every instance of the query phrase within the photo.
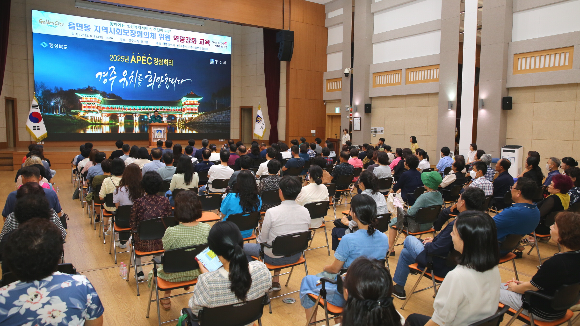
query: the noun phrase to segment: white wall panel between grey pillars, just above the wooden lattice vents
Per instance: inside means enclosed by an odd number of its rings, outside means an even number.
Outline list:
[[[372,63],[382,63],[440,53],[441,30],[376,43]]]

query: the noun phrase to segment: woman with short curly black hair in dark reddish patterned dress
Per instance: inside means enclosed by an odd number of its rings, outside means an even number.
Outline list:
[[[141,198],[133,200],[133,208],[131,209],[131,220],[129,225],[133,231],[137,231],[137,224],[142,220],[161,218],[162,216],[171,216],[171,204],[169,200],[157,193],[161,189],[161,177],[158,173],[149,171],[145,173],[141,180],[141,186],[145,195]],[[139,233],[133,234],[133,242],[135,243],[135,250],[139,251],[158,251],[163,249],[161,239],[159,240],[140,240]],[[144,278],[143,269],[141,266],[141,259],[137,258],[137,280]]]

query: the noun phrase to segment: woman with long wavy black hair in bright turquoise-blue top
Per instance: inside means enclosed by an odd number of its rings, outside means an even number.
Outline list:
[[[223,220],[227,220],[230,214],[258,212],[260,208],[262,208],[262,198],[258,195],[256,178],[251,171],[241,170],[238,173],[233,192],[227,194],[222,200],[220,212],[225,215]],[[252,236],[253,229],[240,231],[242,237],[248,238]]]

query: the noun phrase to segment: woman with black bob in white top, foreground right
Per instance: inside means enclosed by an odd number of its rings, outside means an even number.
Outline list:
[[[411,314],[410,326],[463,326],[498,310],[499,247],[494,221],[483,212],[465,211],[455,218],[453,247],[459,265],[449,271],[433,302],[433,316]]]

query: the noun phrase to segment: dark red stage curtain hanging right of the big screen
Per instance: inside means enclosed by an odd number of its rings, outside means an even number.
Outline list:
[[[278,60],[277,30],[264,28],[264,79],[270,119],[269,143],[278,142],[278,105],[280,104],[280,60]]]

